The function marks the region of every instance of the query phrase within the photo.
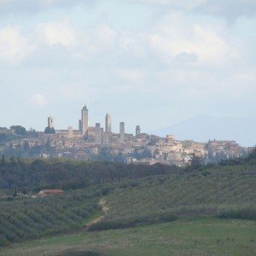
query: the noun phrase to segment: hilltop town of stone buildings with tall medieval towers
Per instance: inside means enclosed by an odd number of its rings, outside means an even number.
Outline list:
[[[44,131],[23,131],[22,126],[0,128],[0,153],[9,156],[51,158],[67,157],[79,160],[113,160],[127,164],[188,166],[193,161],[207,164],[247,156],[252,148],[241,147],[236,141],[209,140],[205,143],[192,140],[179,141],[174,135],[166,137],[141,132],[125,133],[125,122],[119,122],[119,133],[112,130],[112,118],[105,117],[105,127],[100,123],[89,126],[89,110],[81,109],[79,130],[55,130],[54,117],[48,117]],[[24,130],[24,128],[23,128]],[[21,129],[22,131],[22,129]]]

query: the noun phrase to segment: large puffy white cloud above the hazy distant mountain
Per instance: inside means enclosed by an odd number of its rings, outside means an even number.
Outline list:
[[[236,58],[236,48],[225,38],[224,26],[191,22],[179,14],[160,20],[148,32],[148,42],[154,53],[169,64],[184,52],[196,55],[203,65],[221,65]]]

